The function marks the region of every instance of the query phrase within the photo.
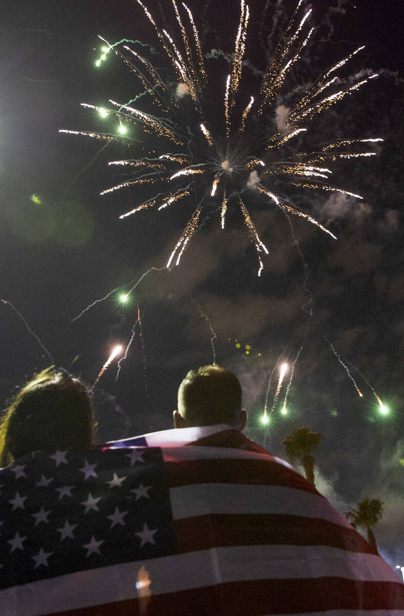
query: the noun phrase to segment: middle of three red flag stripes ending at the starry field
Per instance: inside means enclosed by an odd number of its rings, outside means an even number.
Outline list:
[[[166,462],[170,488],[190,484],[285,485],[319,494],[298,472],[271,460],[191,460]]]

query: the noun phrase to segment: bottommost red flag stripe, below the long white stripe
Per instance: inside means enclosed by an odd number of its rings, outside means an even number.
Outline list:
[[[400,582],[355,582],[344,578],[231,582],[46,616],[258,616],[325,610],[404,609]],[[365,616],[365,611],[363,611]]]

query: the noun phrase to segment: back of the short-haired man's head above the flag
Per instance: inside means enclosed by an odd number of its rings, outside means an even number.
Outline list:
[[[243,430],[246,422],[247,413],[241,408],[241,386],[236,375],[216,365],[188,372],[178,389],[175,428],[225,423]]]

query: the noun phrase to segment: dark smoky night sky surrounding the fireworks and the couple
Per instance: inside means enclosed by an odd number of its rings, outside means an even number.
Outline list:
[[[167,5],[165,18],[172,24],[171,3],[160,4]],[[264,0],[250,2],[251,37],[247,35],[246,57],[259,69],[264,68],[265,54],[253,33],[264,19],[264,5]],[[163,25],[159,3],[152,0],[148,6]],[[219,14],[213,2],[204,6],[190,1],[189,6],[201,24],[204,51],[231,53],[238,3],[221,2]],[[283,9],[288,12],[293,6],[285,2]],[[296,196],[297,205],[338,237],[331,240],[308,222],[293,219],[306,269],[287,219],[261,202],[252,203],[250,213],[270,250],[258,278],[255,249],[240,217],[230,212],[227,228],[221,231],[220,213],[214,210],[180,266],[165,270],[194,203],[119,220],[120,214],[140,203],[140,195],[130,188],[106,197],[99,193],[119,181],[108,161],[136,157],[136,147],[130,155],[119,144],[100,152],[99,141],[58,132],[102,130],[100,120],[80,107],[81,102],[106,105],[109,98],[125,102],[141,92],[141,85],[118,58],[95,68],[98,34],[110,43],[125,37],[158,48],[137,3],[3,3],[0,299],[20,311],[56,365],[69,368],[79,355],[71,370],[90,383],[113,345],[129,342],[140,307],[142,339],[137,329],[119,379],[115,382],[115,364],[98,386],[101,439],[171,427],[181,379],[190,368],[213,360],[210,320],[217,336],[217,362],[232,368],[244,387],[248,436],[282,455],[280,440],[293,429],[309,425],[322,431],[325,440],[317,455],[320,491],[341,511],[366,495],[384,500],[384,518],[375,534],[382,554],[395,565],[404,564],[402,4],[379,6],[368,0],[356,2],[355,7],[341,0],[314,2],[317,45],[308,50],[302,73],[296,68],[291,83],[303,86],[307,76],[318,76],[320,69],[366,45],[350,65],[351,73],[343,75],[372,69],[381,75],[379,79],[310,125],[320,142],[336,137],[384,139],[371,160],[333,166],[335,184],[363,195],[363,201],[325,192]],[[271,26],[271,9],[265,22]],[[164,63],[160,55],[156,59],[157,64]],[[219,80],[226,76],[223,59],[210,60],[209,66]],[[245,74],[249,84],[248,68]],[[218,100],[223,100],[222,92]],[[213,110],[215,104],[213,96]],[[275,105],[287,106],[287,94]],[[218,109],[222,113],[220,105]],[[33,195],[41,203],[35,203]],[[128,290],[151,267],[162,270],[153,270],[142,280],[130,306],[119,305],[114,293],[71,323],[82,309],[114,288]],[[302,309],[308,290],[313,296],[310,319]],[[50,360],[10,306],[0,306],[0,395],[6,405],[15,387]],[[353,364],[346,365],[363,399],[327,340],[345,363]],[[301,346],[289,413],[280,415],[282,392],[269,428],[263,429],[259,416],[269,376],[282,352],[285,361],[293,362]],[[269,407],[277,375],[275,371]],[[388,415],[379,413],[371,388],[389,408]]]

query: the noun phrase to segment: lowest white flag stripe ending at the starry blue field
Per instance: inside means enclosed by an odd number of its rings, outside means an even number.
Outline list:
[[[194,484],[170,488],[173,518],[208,514],[280,514],[320,518],[351,529],[322,496],[283,485]]]

